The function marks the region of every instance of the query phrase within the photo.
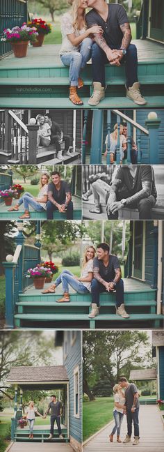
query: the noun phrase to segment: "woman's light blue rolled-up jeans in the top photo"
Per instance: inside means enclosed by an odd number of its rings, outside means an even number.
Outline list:
[[[69,83],[71,86],[78,85],[81,70],[91,57],[92,43],[92,39],[85,38],[81,43],[79,52],[72,50],[72,52],[65,52],[63,55],[60,55],[62,63],[65,66],[69,66]]]

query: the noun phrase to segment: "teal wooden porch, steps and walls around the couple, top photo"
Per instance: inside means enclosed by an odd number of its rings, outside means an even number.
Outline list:
[[[33,13],[32,8],[29,10]],[[8,8],[1,2],[1,33],[6,27],[21,25],[28,17],[28,2],[13,0]],[[136,22],[138,49],[138,75],[142,93],[147,98],[148,108],[161,108],[164,103],[164,57],[163,57],[163,1],[143,0],[140,16]],[[69,68],[63,66],[58,57],[58,47],[28,48],[28,56],[15,59],[10,45],[3,43],[0,65],[0,97],[4,108],[49,108],[72,109],[69,101]],[[92,91],[92,67],[88,63],[83,72],[84,87],[81,90],[83,108],[91,109],[88,98]],[[133,108],[126,98],[124,66],[106,66],[106,97],[98,109]],[[47,90],[47,86],[49,89]],[[76,106],[81,110],[81,106]],[[136,105],[136,109],[142,107]],[[145,106],[143,106],[145,108]],[[96,107],[97,110],[97,107]]]

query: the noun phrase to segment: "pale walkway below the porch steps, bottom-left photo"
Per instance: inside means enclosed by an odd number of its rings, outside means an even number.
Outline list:
[[[15,442],[8,452],[72,452],[69,444]]]

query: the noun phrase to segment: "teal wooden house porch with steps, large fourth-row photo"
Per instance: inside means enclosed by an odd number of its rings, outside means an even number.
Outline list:
[[[61,294],[42,294],[26,278],[27,269],[40,262],[40,225],[35,246],[26,244],[22,223],[17,223],[15,255],[7,256],[6,328],[110,329],[163,328],[163,221],[130,221],[129,253],[124,263],[124,299],[129,319],[115,314],[115,294],[102,293],[100,312],[89,319],[90,294],[70,292],[69,303],[56,303]],[[124,227],[123,227],[124,229]],[[108,238],[110,241],[110,238]]]

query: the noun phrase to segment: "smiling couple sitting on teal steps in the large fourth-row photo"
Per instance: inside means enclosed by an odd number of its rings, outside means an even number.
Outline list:
[[[97,256],[96,256],[97,253]],[[69,286],[78,294],[92,294],[92,310],[88,317],[91,319],[99,315],[99,295],[101,292],[116,292],[116,313],[129,318],[124,308],[124,282],[120,262],[117,256],[110,255],[108,243],[99,243],[97,252],[94,246],[88,246],[83,255],[81,276],[78,278],[65,269],[43,294],[56,292],[56,287],[62,284],[63,296],[57,303],[67,303],[69,299]]]

